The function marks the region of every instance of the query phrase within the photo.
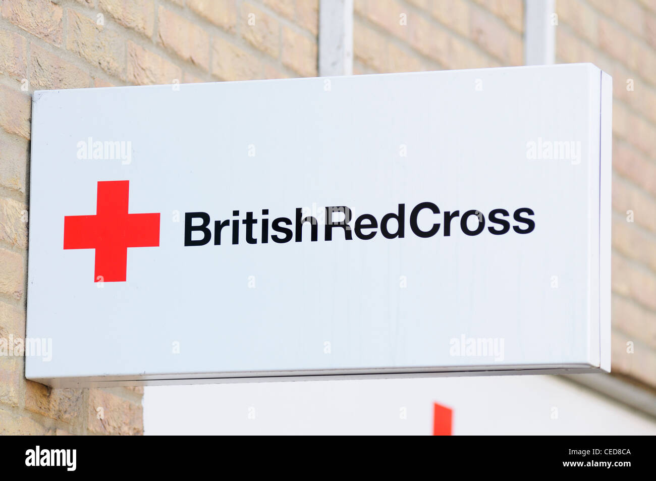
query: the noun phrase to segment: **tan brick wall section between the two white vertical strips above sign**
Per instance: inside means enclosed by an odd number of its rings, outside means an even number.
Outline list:
[[[523,64],[523,0],[354,0],[354,73]]]

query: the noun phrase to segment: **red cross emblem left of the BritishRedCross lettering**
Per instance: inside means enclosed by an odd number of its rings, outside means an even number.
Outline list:
[[[64,217],[64,249],[96,249],[94,282],[123,282],[128,247],[159,247],[159,213],[127,213],[129,180],[98,182],[96,215]]]

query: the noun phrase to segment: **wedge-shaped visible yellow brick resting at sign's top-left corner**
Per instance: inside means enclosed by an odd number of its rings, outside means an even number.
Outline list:
[[[39,89],[81,89],[89,87],[89,73],[62,60],[57,54],[30,45],[30,86]]]

